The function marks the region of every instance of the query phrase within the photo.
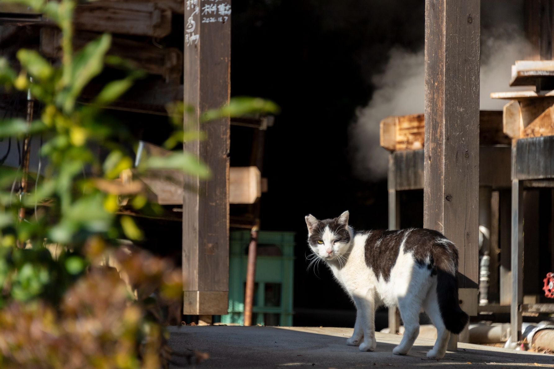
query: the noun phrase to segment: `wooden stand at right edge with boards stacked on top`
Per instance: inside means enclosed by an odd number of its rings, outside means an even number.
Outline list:
[[[554,8],[552,9],[554,11]],[[491,93],[514,99],[504,106],[503,129],[511,145],[511,289],[510,340],[522,339],[522,313],[554,313],[554,304],[524,304],[524,190],[554,188],[554,96],[541,90],[552,85],[551,61],[516,62],[512,86],[533,84],[536,91]],[[499,309],[507,308],[507,295]]]

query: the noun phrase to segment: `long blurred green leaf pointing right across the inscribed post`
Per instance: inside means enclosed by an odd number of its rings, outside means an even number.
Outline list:
[[[278,112],[279,106],[273,101],[259,97],[233,97],[229,100],[228,105],[204,112],[200,121],[209,122],[224,117],[235,118],[253,113],[276,114]]]

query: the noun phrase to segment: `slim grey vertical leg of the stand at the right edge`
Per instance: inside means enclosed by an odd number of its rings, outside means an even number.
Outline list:
[[[521,305],[523,304],[523,182],[512,179],[511,217],[512,301],[510,338],[512,346],[521,340]]]

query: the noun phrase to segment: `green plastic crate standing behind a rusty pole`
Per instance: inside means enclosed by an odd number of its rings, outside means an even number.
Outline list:
[[[293,325],[294,232],[258,233],[253,324]],[[230,233],[229,313],[221,323],[244,324],[249,231]]]

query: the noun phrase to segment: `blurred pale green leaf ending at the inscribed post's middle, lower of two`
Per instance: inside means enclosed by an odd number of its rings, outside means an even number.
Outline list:
[[[149,157],[141,165],[141,169],[176,169],[203,179],[210,176],[208,166],[189,152],[175,152],[165,157]]]

